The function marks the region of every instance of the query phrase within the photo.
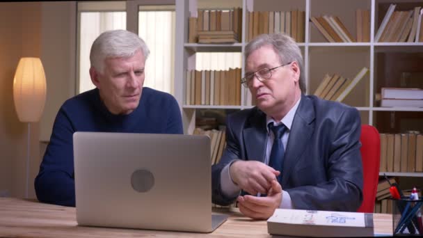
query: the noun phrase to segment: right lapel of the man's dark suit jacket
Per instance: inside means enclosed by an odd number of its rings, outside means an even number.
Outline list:
[[[292,122],[289,132],[287,148],[285,149],[285,157],[282,171],[282,189],[287,183],[292,168],[298,163],[299,157],[310,143],[310,137],[314,132],[314,108],[311,100],[301,95],[301,102]]]

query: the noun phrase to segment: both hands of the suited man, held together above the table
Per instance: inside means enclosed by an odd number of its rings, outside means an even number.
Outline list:
[[[269,219],[282,201],[282,187],[276,179],[279,174],[280,171],[260,161],[234,161],[230,166],[232,180],[253,195],[237,198],[239,211],[252,219]],[[254,196],[257,193],[267,196]]]

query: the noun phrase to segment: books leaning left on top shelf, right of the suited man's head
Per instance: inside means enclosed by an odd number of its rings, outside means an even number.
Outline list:
[[[311,20],[329,42],[356,42],[339,17],[324,15],[311,17]]]

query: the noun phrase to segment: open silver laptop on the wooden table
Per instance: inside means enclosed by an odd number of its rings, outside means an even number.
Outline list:
[[[79,225],[212,232],[207,136],[76,132]]]

